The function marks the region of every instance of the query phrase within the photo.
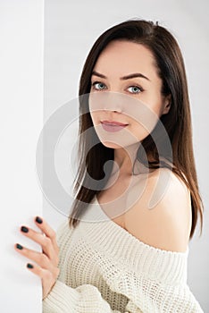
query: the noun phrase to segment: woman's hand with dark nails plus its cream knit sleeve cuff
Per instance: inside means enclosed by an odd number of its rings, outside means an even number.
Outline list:
[[[91,284],[83,284],[76,289],[57,280],[62,273],[62,262],[65,258],[59,255],[59,246],[57,240],[62,240],[63,228],[68,223],[64,222],[58,228],[57,233],[46,223],[45,220],[38,217],[35,223],[44,233],[38,233],[29,227],[25,227],[22,233],[29,239],[38,242],[42,246],[42,252],[30,250],[20,244],[15,245],[16,251],[22,256],[30,258],[36,263],[30,264],[29,270],[38,275],[42,281],[43,289],[43,312],[45,313],[72,313],[72,312],[106,312],[120,313],[112,310],[109,303],[106,302],[97,288]],[[68,226],[67,226],[68,227]],[[71,233],[69,233],[71,237]],[[61,267],[61,271],[58,267]]]

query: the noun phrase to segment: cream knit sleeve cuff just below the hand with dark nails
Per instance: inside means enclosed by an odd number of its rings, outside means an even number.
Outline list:
[[[65,237],[65,229],[68,230],[68,237]],[[62,238],[63,235],[63,238]],[[64,263],[65,255],[62,253],[63,241],[71,240],[68,222],[60,225],[56,232],[58,245],[61,247],[59,266],[61,268],[59,280],[54,284],[53,289],[43,300],[43,313],[120,313],[118,310],[112,310],[109,303],[104,300],[96,286],[92,284],[82,284],[77,288],[64,283]],[[141,313],[140,310],[131,310],[127,313]],[[124,312],[126,313],[126,312]]]

